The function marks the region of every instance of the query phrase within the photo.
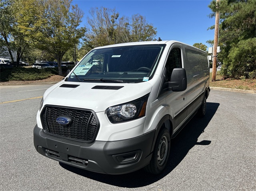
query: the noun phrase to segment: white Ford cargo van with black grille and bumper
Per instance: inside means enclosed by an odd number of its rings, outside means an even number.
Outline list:
[[[34,146],[89,171],[159,174],[170,139],[206,113],[209,71],[207,53],[179,41],[92,49],[44,93]]]

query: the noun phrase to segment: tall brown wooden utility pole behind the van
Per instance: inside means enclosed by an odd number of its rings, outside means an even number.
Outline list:
[[[216,71],[217,71],[217,47],[219,39],[219,22],[220,22],[220,12],[219,7],[220,0],[216,0],[216,14],[215,14],[215,31],[214,31],[214,45],[213,45],[213,56],[212,56],[212,82],[216,81]]]

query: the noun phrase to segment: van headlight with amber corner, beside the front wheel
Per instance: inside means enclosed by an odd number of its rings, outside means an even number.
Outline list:
[[[145,116],[148,96],[149,94],[128,103],[109,107],[108,119],[112,123],[120,123]]]

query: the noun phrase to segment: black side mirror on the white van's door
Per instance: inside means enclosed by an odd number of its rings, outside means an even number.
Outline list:
[[[171,81],[168,82],[168,90],[181,92],[187,89],[187,75],[184,68],[174,68]]]

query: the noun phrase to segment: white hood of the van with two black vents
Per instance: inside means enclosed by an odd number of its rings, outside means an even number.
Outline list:
[[[151,92],[152,85],[142,83],[74,83],[61,81],[44,94],[44,105],[85,108],[94,112],[136,100]]]

